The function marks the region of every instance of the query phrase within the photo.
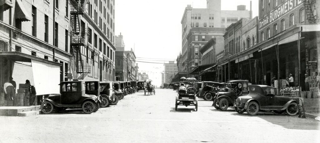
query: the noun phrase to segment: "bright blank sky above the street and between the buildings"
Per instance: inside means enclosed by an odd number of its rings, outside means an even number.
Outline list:
[[[146,72],[157,87],[163,63],[177,59],[181,51],[180,22],[188,4],[206,8],[206,0],[115,0],[115,35],[123,35],[125,50],[134,50],[139,72]],[[221,10],[236,10],[237,5],[250,10],[250,0],[221,0]],[[252,0],[252,17],[258,12],[258,0]]]

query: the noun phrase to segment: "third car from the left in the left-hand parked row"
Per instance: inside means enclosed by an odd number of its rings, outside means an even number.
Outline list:
[[[100,82],[100,97],[104,100],[108,100],[108,104],[101,107],[108,107],[110,105],[116,105],[119,98],[115,95],[113,81]],[[101,100],[103,103],[104,100]]]

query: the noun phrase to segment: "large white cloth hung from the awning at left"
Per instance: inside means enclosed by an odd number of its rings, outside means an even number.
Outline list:
[[[60,66],[34,59],[31,63],[36,95],[59,94]]]

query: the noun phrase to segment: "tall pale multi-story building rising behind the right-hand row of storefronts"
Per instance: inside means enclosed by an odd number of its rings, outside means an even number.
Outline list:
[[[192,70],[195,69],[196,65],[201,64],[199,62],[201,55],[190,56],[193,53],[192,51],[195,51],[195,46],[199,46],[200,48],[198,43],[201,43],[201,46],[203,46],[212,36],[222,36],[224,30],[219,28],[225,28],[242,17],[251,18],[251,11],[245,10],[244,5],[238,6],[237,11],[221,10],[221,0],[207,0],[207,8],[192,8],[191,5],[188,5],[181,19],[182,51],[181,57],[179,56],[179,61],[177,61],[179,72],[192,74]],[[216,28],[217,31],[209,34],[208,30],[206,30],[208,28],[211,30]],[[197,39],[201,42],[196,42]],[[205,41],[202,41],[202,39]]]

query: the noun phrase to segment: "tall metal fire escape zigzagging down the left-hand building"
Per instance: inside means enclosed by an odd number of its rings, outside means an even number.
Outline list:
[[[84,62],[81,57],[81,46],[84,46],[87,29],[80,24],[80,15],[84,14],[86,0],[71,0],[71,27],[70,34],[70,47],[72,56],[74,58],[76,74],[74,79],[84,79],[90,73],[90,66],[84,66]]]

